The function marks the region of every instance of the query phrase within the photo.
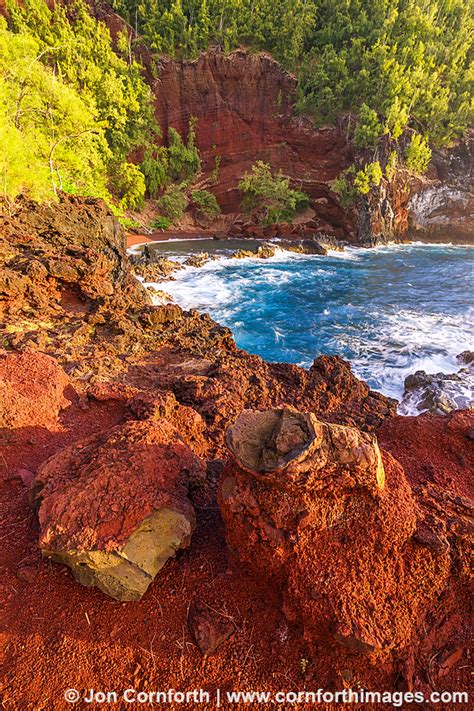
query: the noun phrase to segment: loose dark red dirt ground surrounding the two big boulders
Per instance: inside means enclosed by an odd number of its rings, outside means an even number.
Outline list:
[[[460,617],[466,591],[462,587],[456,584],[445,591],[431,613],[439,650],[435,659],[430,657],[435,643],[431,631],[430,643],[427,638],[415,645],[420,655],[416,670],[410,654],[395,657],[389,664],[364,664],[362,668],[354,659],[348,667],[347,655],[337,649],[329,654],[325,648],[308,648],[298,625],[289,624],[280,611],[278,589],[228,560],[212,495],[206,501],[195,501],[198,526],[190,549],[168,561],[139,602],[114,602],[74,582],[65,567],[42,559],[29,488],[15,472],[35,471],[64,446],[131,417],[120,395],[86,401],[70,389],[69,399],[51,430],[35,426],[1,432],[4,708],[70,708],[63,701],[67,688],[81,692],[90,688],[119,692],[126,688],[203,688],[211,694],[217,687],[274,691],[343,689],[359,684],[366,689],[466,688],[467,628]],[[423,465],[410,468],[409,460],[420,462],[427,457],[429,461],[431,457],[434,463],[442,457],[446,472],[442,482],[449,479],[453,495],[461,493],[460,482],[465,494],[466,471],[472,464],[465,435],[473,420],[470,413],[392,418],[383,427],[381,441],[388,449],[396,448],[413,483],[423,483]],[[428,449],[417,436],[418,429],[431,443]],[[218,465],[216,461],[217,473]],[[211,479],[216,472],[210,468]],[[230,638],[207,659],[198,651],[186,622],[193,601],[208,611],[214,626],[223,621],[232,626]]]

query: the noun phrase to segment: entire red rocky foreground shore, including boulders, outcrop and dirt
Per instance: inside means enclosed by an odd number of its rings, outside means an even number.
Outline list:
[[[266,363],[153,305],[98,201],[0,235],[13,707],[65,679],[467,687],[472,411],[399,417],[341,358]]]

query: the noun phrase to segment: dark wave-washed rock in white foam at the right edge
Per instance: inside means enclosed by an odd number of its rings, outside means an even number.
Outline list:
[[[445,415],[452,410],[474,409],[474,354],[464,351],[456,359],[466,364],[457,373],[417,370],[409,375],[405,379],[400,413]]]

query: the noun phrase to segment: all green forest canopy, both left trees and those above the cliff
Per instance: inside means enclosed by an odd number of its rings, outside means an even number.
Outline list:
[[[192,198],[200,169],[194,125],[156,146],[151,91],[132,33],[115,46],[85,0],[8,0],[0,21],[2,192],[102,195],[120,209],[145,194],[168,214]],[[112,0],[156,53],[195,57],[210,45],[271,52],[298,77],[297,108],[319,125],[343,118],[363,164],[339,189],[367,193],[403,162],[423,172],[429,145],[472,123],[474,0]],[[378,146],[388,142],[382,166]],[[141,155],[141,165],[131,160]],[[388,157],[387,157],[388,155]],[[177,186],[177,189],[175,189]],[[185,200],[178,193],[186,193]],[[215,210],[215,206],[211,210]]]

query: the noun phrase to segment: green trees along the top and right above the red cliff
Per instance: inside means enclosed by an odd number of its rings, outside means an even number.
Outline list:
[[[298,105],[355,120],[359,147],[410,126],[443,144],[472,119],[473,0],[113,0],[152,50],[270,51],[298,71]]]

